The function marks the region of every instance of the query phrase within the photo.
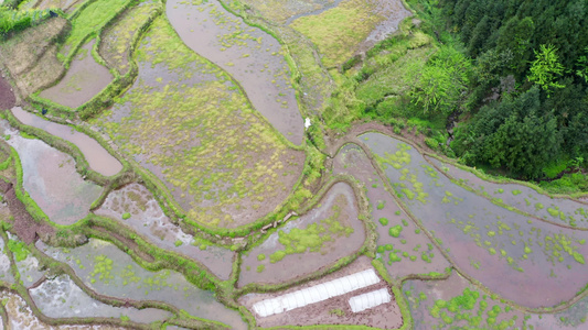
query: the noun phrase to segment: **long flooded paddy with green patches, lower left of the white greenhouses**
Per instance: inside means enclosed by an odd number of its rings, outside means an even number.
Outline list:
[[[237,311],[223,306],[212,292],[202,290],[174,271],[149,272],[116,245],[90,239],[75,249],[53,248],[41,241],[36,248],[67,263],[89,288],[100,295],[168,302],[188,314],[247,329]]]

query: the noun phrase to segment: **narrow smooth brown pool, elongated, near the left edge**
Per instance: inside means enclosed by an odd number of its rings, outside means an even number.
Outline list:
[[[76,131],[74,128],[42,119],[39,116],[22,110],[21,107],[12,108],[12,113],[25,125],[41,129],[75,144],[84,154],[84,157],[86,157],[89,167],[99,174],[111,176],[122,169],[122,164],[110,155],[96,140]]]

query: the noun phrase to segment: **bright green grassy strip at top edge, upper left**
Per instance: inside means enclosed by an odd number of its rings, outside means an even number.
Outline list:
[[[72,31],[60,54],[64,59],[73,55],[73,51],[86,41],[88,35],[105,26],[130,0],[96,0],[88,4],[72,21]]]

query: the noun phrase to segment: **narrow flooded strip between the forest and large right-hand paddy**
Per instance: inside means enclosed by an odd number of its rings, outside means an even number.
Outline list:
[[[553,198],[537,190],[517,184],[487,182],[475,174],[455,165],[427,157],[449,178],[458,180],[493,201],[505,204],[537,218],[577,228],[588,228],[588,204],[569,198]]]

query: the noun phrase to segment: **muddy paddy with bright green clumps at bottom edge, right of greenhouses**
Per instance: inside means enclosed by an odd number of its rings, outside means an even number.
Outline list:
[[[470,324],[467,320],[459,320],[456,317],[457,314],[449,311],[447,308],[441,308],[439,315],[445,314],[447,317],[450,317],[452,319],[451,322],[447,323],[440,316],[434,317],[431,309],[436,300],[442,299],[445,301],[449,301],[457,296],[462,296],[466,288],[477,292],[479,297],[472,309],[463,309],[458,312],[469,315],[470,317],[477,317],[480,312],[480,323],[472,327],[472,324]],[[506,329],[521,329],[523,326],[524,314],[522,311],[517,309],[510,309],[506,304],[501,302],[500,299],[488,296],[484,294],[484,292],[478,289],[456,272],[453,272],[449,278],[441,280],[406,280],[403,284],[403,294],[407,297],[410,314],[413,315],[411,329],[415,330],[499,329],[498,326],[500,322],[509,321],[511,319],[514,319],[514,324],[513,327],[507,327]],[[488,307],[481,308],[481,301],[485,301]],[[499,306],[501,308],[501,312],[495,317],[495,323],[489,324],[487,322],[489,318],[488,311],[491,310],[493,306]],[[505,308],[509,308],[510,310],[505,312]]]

